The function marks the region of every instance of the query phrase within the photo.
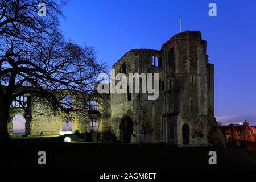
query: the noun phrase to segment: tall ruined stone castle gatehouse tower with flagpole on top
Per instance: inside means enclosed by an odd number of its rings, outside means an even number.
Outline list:
[[[214,65],[199,31],[173,36],[160,51],[133,49],[113,65],[117,73],[159,73],[159,97],[112,94],[111,123],[123,142],[176,146],[223,144],[214,119]],[[214,141],[213,141],[214,140]]]

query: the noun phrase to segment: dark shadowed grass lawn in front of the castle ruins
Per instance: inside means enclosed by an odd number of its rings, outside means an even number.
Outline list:
[[[38,152],[47,164],[39,166]],[[210,166],[208,152],[217,152]],[[57,138],[15,138],[0,149],[0,169],[86,171],[256,170],[256,155],[219,146],[178,148],[163,145],[64,143]]]

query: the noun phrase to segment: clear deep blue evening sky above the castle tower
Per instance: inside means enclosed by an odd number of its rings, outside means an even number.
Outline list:
[[[208,5],[217,5],[217,17]],[[73,0],[61,30],[111,67],[133,48],[160,49],[183,30],[200,30],[215,64],[216,117],[256,121],[256,1]],[[225,119],[224,119],[225,120]]]

